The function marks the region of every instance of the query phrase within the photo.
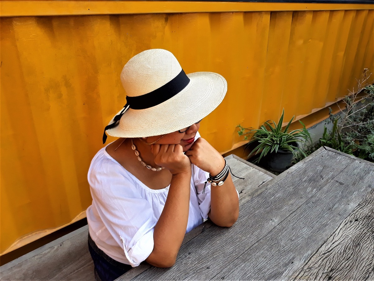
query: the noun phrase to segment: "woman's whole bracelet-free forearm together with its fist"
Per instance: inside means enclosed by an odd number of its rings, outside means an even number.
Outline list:
[[[168,197],[153,232],[153,250],[145,260],[153,266],[171,267],[177,259],[188,223],[191,162],[180,144],[153,144],[154,163],[171,174]]]

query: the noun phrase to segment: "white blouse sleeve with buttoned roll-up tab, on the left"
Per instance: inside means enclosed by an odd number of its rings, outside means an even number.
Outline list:
[[[112,245],[113,249],[118,249],[118,245],[123,249],[119,257],[124,254],[131,266],[138,266],[153,251],[157,219],[150,202],[141,197],[136,182],[123,173],[122,166],[105,162],[99,161],[99,167],[93,166],[89,171],[92,205],[117,243]],[[97,236],[101,229],[92,232],[95,233],[90,235]],[[105,250],[108,246],[111,245],[105,245]],[[98,247],[101,248],[100,244]]]

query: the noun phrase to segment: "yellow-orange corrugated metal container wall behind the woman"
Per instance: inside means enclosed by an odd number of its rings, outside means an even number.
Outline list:
[[[145,49],[171,51],[186,73],[227,79],[226,98],[200,130],[220,152],[243,144],[237,124],[257,127],[283,108],[286,120],[300,119],[337,102],[364,68],[374,69],[373,5],[302,10],[283,3],[282,11],[244,3],[236,11],[183,12],[184,2],[178,13],[152,6],[155,13],[100,15],[100,1],[92,1],[96,15],[16,16],[17,2],[53,1],[3,2],[1,254],[85,217],[90,161],[126,103],[119,74]]]

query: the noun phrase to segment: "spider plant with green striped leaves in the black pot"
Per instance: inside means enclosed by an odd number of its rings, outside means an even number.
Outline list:
[[[259,162],[261,158],[267,155],[268,153],[277,153],[278,150],[290,151],[294,156],[296,156],[297,152],[300,152],[301,154],[305,155],[304,151],[301,148],[299,148],[297,144],[298,142],[305,141],[312,142],[312,138],[309,132],[307,131],[305,125],[301,121],[299,121],[303,126],[302,129],[292,131],[289,130],[289,126],[291,125],[292,120],[295,117],[294,115],[288,122],[287,126],[284,127],[284,129],[282,129],[283,117],[284,109],[282,111],[282,115],[278,123],[275,123],[273,120],[268,120],[260,127],[260,129],[253,130],[244,128],[240,125],[237,126],[239,127],[239,136],[245,135],[244,139],[248,139],[247,134],[253,134],[252,139],[248,144],[254,142],[258,143],[256,148],[252,150],[248,157],[250,157],[254,153],[257,155],[261,151],[260,157],[257,160],[257,162]]]

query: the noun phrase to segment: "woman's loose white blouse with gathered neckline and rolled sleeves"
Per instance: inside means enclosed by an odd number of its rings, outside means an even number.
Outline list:
[[[89,233],[98,248],[109,257],[135,267],[153,250],[153,231],[165,206],[169,186],[160,190],[148,188],[114,160],[105,148],[92,159],[88,172],[92,195],[92,205],[86,212]],[[134,157],[134,164],[137,161]],[[211,206],[209,183],[202,194],[208,176],[209,173],[192,165],[186,232],[208,218]]]

